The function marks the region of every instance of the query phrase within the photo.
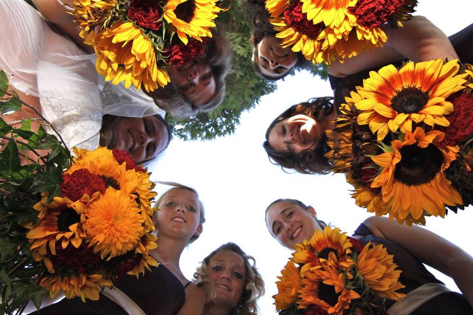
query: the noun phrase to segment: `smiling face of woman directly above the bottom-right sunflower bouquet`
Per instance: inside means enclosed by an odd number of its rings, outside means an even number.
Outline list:
[[[320,229],[315,216],[312,207],[304,210],[295,203],[279,201],[268,208],[266,224],[272,237],[293,250],[296,244],[310,238]]]

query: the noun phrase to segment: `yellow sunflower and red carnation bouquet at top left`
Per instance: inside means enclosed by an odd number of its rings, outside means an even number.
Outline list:
[[[73,0],[79,35],[97,54],[106,81],[154,91],[169,82],[168,65],[204,52],[219,0]],[[177,34],[178,39],[174,39]]]

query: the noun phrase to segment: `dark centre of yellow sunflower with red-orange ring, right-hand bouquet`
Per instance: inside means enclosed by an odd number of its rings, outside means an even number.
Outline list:
[[[427,104],[429,98],[429,92],[423,92],[418,87],[406,86],[391,98],[391,108],[398,113],[417,113]]]

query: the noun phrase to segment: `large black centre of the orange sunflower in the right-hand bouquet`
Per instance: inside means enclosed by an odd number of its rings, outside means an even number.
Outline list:
[[[437,176],[443,163],[443,154],[434,144],[429,144],[425,149],[412,144],[399,152],[401,161],[396,164],[394,178],[407,186],[429,183]]]

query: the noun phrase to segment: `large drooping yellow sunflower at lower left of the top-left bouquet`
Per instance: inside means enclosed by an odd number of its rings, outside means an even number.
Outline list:
[[[90,32],[84,43],[94,47],[97,54],[96,69],[105,81],[136,89],[144,86],[147,92],[164,87],[170,82],[166,70],[156,64],[153,43],[131,22],[116,22],[97,34]]]

